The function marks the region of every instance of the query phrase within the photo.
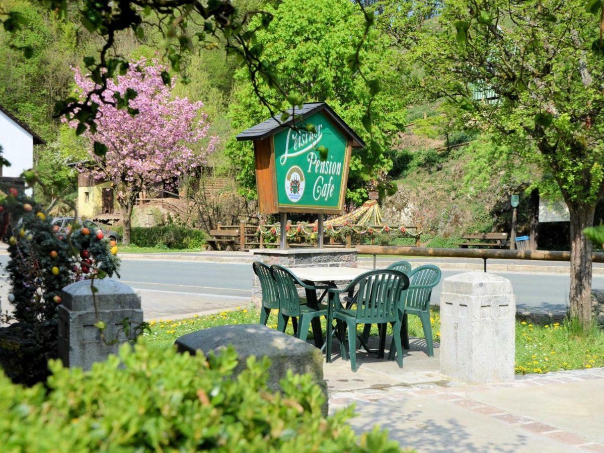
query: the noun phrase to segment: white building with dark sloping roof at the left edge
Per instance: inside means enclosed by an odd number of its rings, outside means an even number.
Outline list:
[[[34,145],[45,144],[27,124],[0,105],[0,146],[10,167],[0,167],[2,178],[18,178],[34,165]]]

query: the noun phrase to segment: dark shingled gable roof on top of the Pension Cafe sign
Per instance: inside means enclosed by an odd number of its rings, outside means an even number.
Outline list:
[[[287,112],[291,115],[293,109],[289,109]],[[304,104],[301,109],[295,109],[296,115],[301,115],[302,119],[310,117],[310,115],[315,114],[316,112],[323,112],[327,118],[333,121],[340,129],[344,131],[346,135],[350,137],[352,140],[352,146],[354,148],[364,148],[365,142],[359,137],[356,132],[350,129],[350,126],[344,123],[344,120],[333,111],[333,109],[324,102],[312,102],[308,104]],[[266,121],[263,121],[260,124],[256,124],[255,126],[250,127],[249,129],[244,130],[243,132],[237,135],[237,140],[245,141],[245,140],[262,140],[266,137],[271,137],[271,135],[275,135],[275,133],[280,132],[286,127],[291,125],[291,117],[289,121],[281,122],[278,118],[272,117]]]

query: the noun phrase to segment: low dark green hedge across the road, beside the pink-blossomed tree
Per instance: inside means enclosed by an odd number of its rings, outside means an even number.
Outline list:
[[[205,244],[205,233],[184,226],[164,225],[150,228],[132,228],[130,241],[139,247],[201,248]]]

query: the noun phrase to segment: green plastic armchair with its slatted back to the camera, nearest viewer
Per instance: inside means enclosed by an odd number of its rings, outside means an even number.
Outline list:
[[[356,292],[356,309],[342,307],[339,300],[340,294],[351,294]],[[331,362],[332,354],[332,330],[333,320],[338,324],[338,340],[340,349],[345,357],[344,323],[348,328],[348,344],[350,367],[356,371],[356,326],[358,324],[387,324],[391,323],[395,332],[400,329],[403,310],[399,309],[400,292],[409,286],[409,278],[400,271],[380,269],[365,272],[344,289],[329,289],[329,315],[327,316],[327,361]],[[403,307],[404,308],[404,307]],[[385,332],[385,329],[384,329]],[[399,353],[397,362],[403,367],[402,344],[400,335],[396,336],[396,350]]]

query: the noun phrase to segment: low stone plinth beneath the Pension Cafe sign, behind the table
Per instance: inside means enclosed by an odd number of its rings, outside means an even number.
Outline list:
[[[253,253],[255,260],[268,266],[276,264],[286,268],[356,268],[357,251],[353,248],[255,249]],[[304,297],[304,292],[301,295]],[[252,277],[252,302],[256,307],[260,307],[262,303],[262,288],[255,274]]]

